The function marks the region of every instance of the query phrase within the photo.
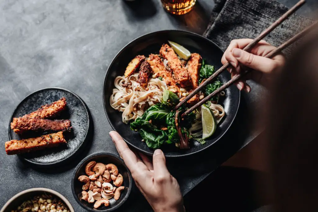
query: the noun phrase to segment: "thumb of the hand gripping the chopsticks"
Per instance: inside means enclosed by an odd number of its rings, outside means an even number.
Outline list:
[[[254,55],[238,48],[232,50],[232,55],[242,65],[245,65],[259,72],[269,73],[276,67],[276,63],[274,60]]]

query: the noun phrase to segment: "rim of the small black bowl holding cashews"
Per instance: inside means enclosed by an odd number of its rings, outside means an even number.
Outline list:
[[[120,203],[118,203],[118,205],[114,206],[113,208],[109,208],[109,209],[105,209],[105,210],[97,210],[97,209],[93,209],[93,208],[89,208],[87,207],[86,205],[84,205],[78,198],[77,194],[75,194],[75,189],[74,189],[74,180],[75,180],[75,174],[76,172],[78,171],[79,167],[84,164],[85,162],[89,161],[92,157],[94,156],[97,156],[97,155],[108,155],[108,156],[111,156],[111,157],[114,157],[116,159],[118,159],[119,161],[121,161],[121,165],[123,165],[127,172],[128,172],[128,176],[129,176],[129,186],[128,186],[128,190],[127,190],[127,193],[126,193],[126,196],[121,200]],[[122,204],[124,204],[124,202],[126,202],[126,200],[128,199],[129,195],[130,195],[130,192],[132,190],[132,184],[133,184],[133,177],[130,173],[130,170],[128,169],[128,167],[126,166],[126,164],[124,163],[124,161],[118,157],[117,155],[115,154],[112,154],[112,153],[108,153],[108,152],[98,152],[98,153],[93,153],[93,154],[90,154],[88,155],[87,157],[85,157],[82,161],[79,162],[79,164],[75,167],[74,169],[74,172],[73,172],[73,175],[72,175],[72,179],[71,179],[71,188],[72,188],[72,193],[73,193],[73,196],[75,198],[75,201],[84,209],[88,210],[88,211],[92,211],[92,212],[109,212],[109,211],[114,211],[116,209],[118,209]],[[93,207],[93,206],[92,206]],[[0,211],[2,212],[2,211]]]

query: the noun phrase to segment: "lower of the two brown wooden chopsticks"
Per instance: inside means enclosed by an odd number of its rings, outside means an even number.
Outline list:
[[[314,28],[314,26],[317,25],[317,22],[314,22],[313,24],[309,25],[308,27],[306,27],[303,31],[299,32],[298,34],[296,34],[294,37],[290,38],[289,40],[287,40],[285,43],[281,44],[279,47],[275,48],[274,50],[272,50],[271,52],[269,52],[268,54],[266,54],[266,58],[272,58],[274,57],[277,53],[279,53],[280,51],[282,51],[283,49],[285,49],[286,47],[288,47],[290,44],[293,44],[295,41],[297,41],[299,38],[303,37],[305,34],[307,34],[311,29]],[[222,85],[221,87],[219,87],[217,90],[215,90],[214,92],[210,93],[208,96],[206,96],[204,99],[202,99],[200,102],[198,102],[197,104],[195,104],[194,106],[192,106],[190,109],[188,109],[186,112],[184,112],[181,116],[185,116],[189,113],[191,113],[192,111],[194,111],[197,107],[203,105],[205,102],[207,102],[208,100],[210,100],[213,96],[215,96],[216,94],[218,94],[219,92],[222,92],[223,90],[225,90],[227,87],[229,87],[230,85],[232,85],[233,83],[239,81],[242,77],[244,77],[246,74],[248,74],[249,72],[251,72],[252,69],[247,69],[245,70],[245,72],[243,73],[239,73],[237,75],[235,75],[231,80],[229,80],[228,82],[226,82],[224,85]]]

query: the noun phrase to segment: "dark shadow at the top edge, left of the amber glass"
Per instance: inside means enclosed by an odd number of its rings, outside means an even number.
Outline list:
[[[140,21],[150,18],[157,13],[153,0],[121,1],[129,21]]]

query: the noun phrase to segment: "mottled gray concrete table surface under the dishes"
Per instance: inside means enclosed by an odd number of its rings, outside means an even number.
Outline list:
[[[280,2],[292,6],[297,0]],[[312,11],[313,3],[308,1],[300,13]],[[182,29],[202,34],[213,6],[211,0],[198,0],[194,11],[173,16],[163,10],[159,0],[0,1],[0,207],[22,190],[45,187],[66,196],[75,211],[84,211],[71,191],[75,166],[95,152],[116,153],[102,102],[103,80],[111,60],[128,42],[145,33]],[[93,118],[89,145],[71,162],[56,168],[32,167],[4,151],[15,106],[31,92],[46,87],[75,92],[86,102]],[[200,156],[167,160],[183,195],[257,136],[257,131],[243,130],[248,125],[242,123],[248,108],[259,100],[262,88],[254,88],[252,94],[243,95],[238,118],[221,142]],[[134,188],[120,210],[148,209]]]

